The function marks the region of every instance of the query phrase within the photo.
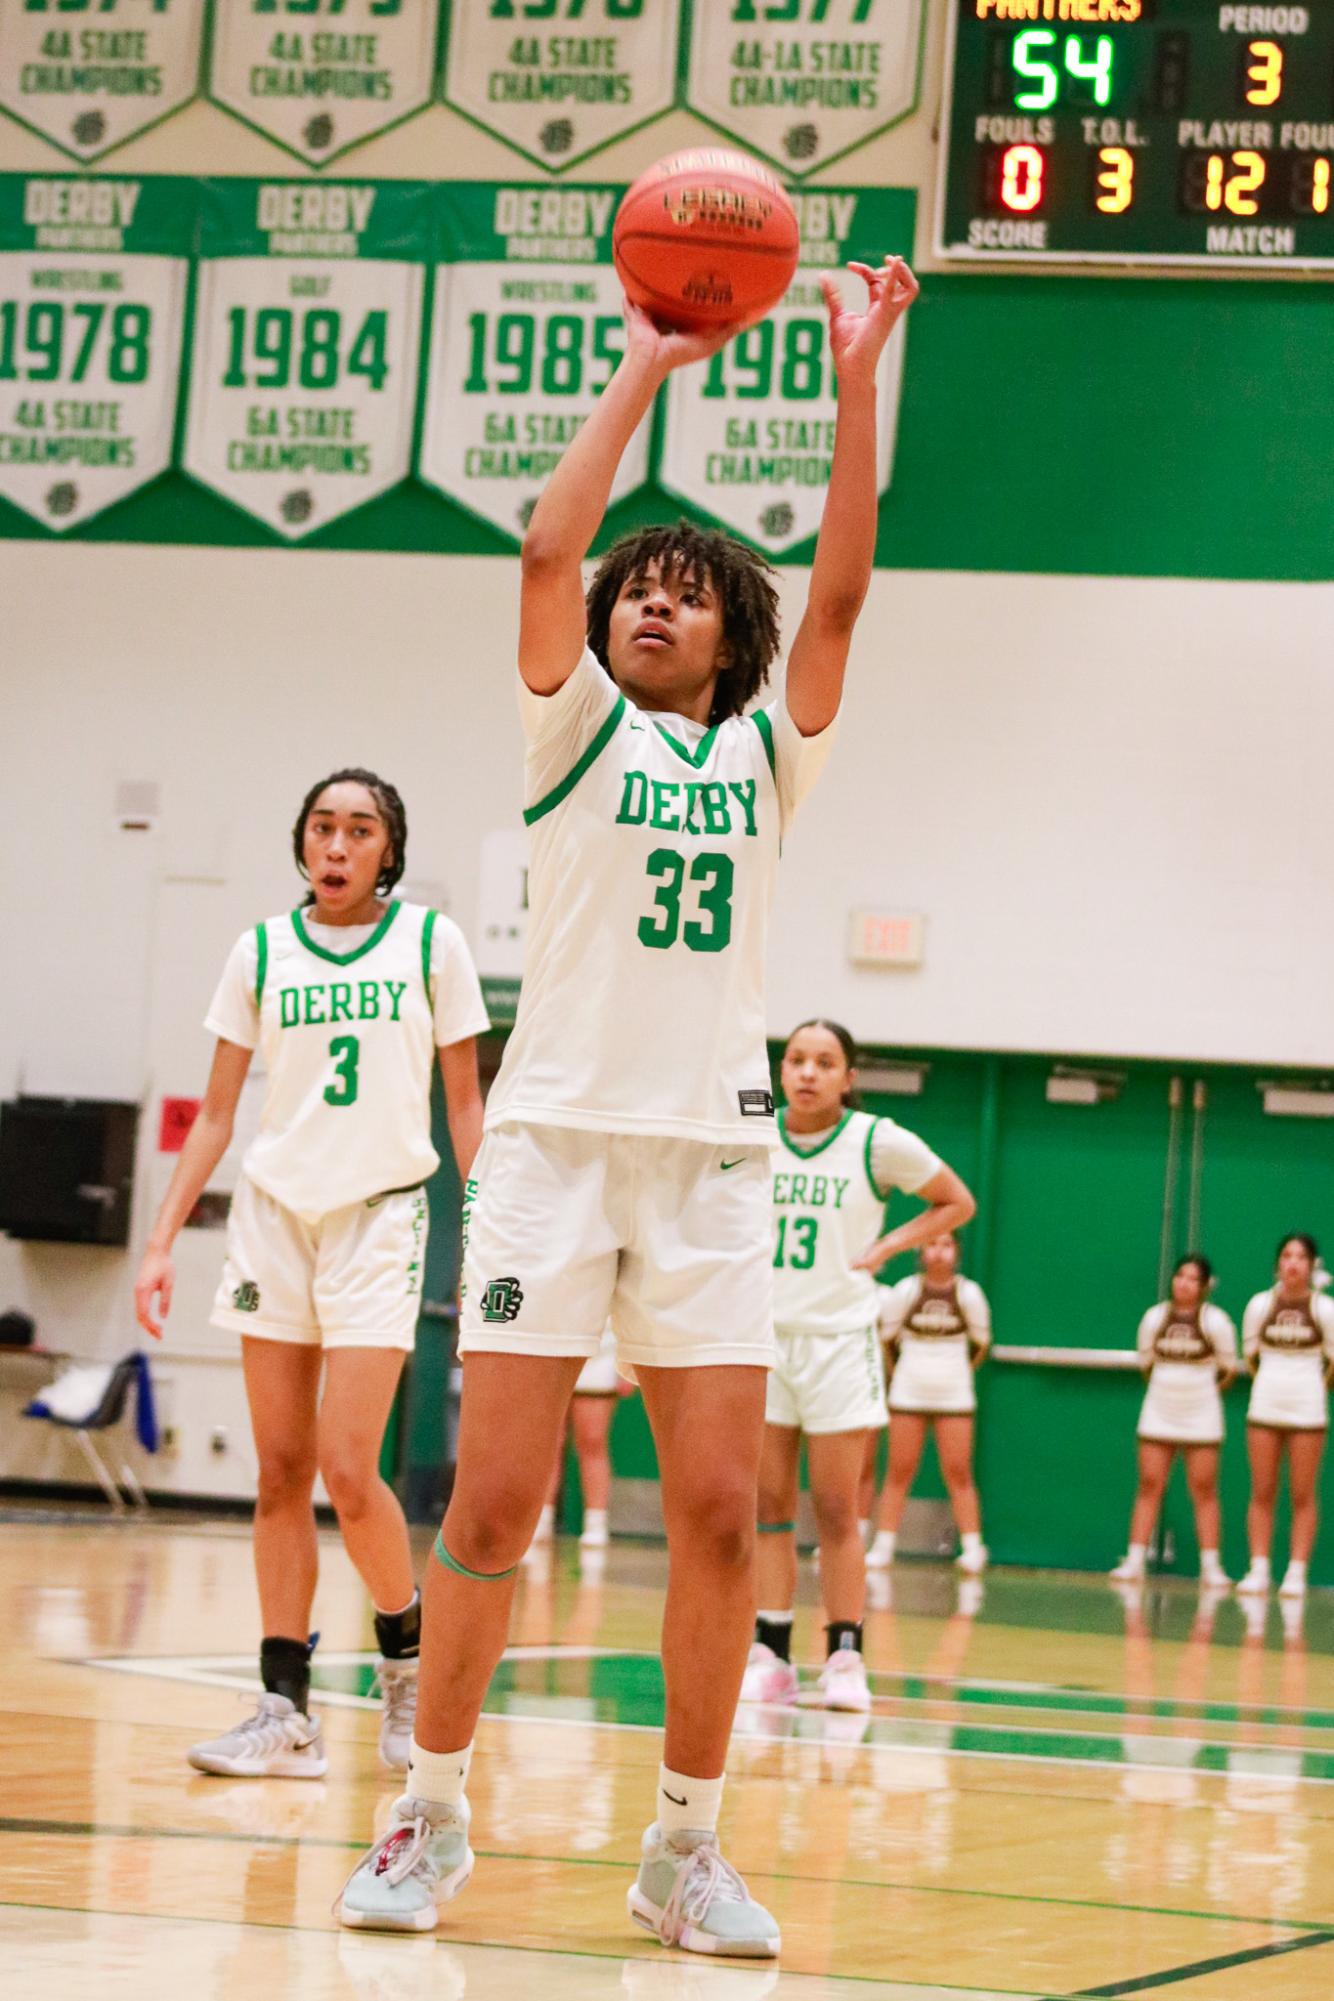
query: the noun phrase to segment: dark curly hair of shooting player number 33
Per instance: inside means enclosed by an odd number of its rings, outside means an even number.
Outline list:
[[[666,582],[694,576],[716,592],[722,604],[722,636],[730,648],[730,664],[718,674],[710,724],[740,716],[768,680],[778,652],[778,590],[772,564],[718,528],[696,528],[678,520],[656,528],[638,528],[612,542],[598,562],[588,586],[588,644],[610,672],[606,656],[612,606],[632,576],[642,576],[650,562]]]

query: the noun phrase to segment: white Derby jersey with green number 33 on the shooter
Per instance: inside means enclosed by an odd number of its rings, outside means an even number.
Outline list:
[[[708,730],[640,710],[588,650],[520,710],[528,940],[486,1125],[768,1145],[778,846],[832,728],[782,700]]]

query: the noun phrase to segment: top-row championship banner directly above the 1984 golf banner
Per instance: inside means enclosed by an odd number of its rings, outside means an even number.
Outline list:
[[[208,94],[324,166],[430,102],[434,0],[214,0]]]

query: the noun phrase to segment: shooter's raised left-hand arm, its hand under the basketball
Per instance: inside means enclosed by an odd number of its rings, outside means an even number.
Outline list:
[[[584,578],[616,466],[672,368],[708,360],[740,326],[668,332],[626,300],[626,352],[594,410],[546,482],[522,548],[518,670],[534,694],[554,694],[584,650]]]

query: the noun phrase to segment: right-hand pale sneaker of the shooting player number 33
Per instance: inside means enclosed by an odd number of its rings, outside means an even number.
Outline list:
[[[718,1835],[696,1829],[664,1835],[654,1821],[626,1907],[644,1931],[688,1953],[772,1959],[782,1943],[776,1919],[722,1859]]]

